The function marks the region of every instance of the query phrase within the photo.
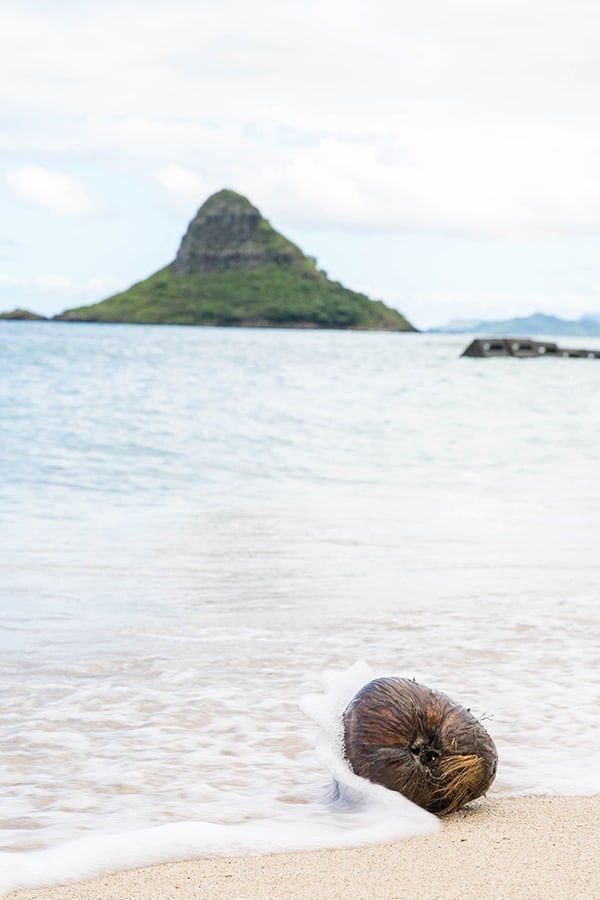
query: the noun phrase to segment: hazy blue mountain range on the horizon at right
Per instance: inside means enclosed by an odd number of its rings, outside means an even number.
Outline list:
[[[429,328],[442,334],[510,334],[515,336],[551,334],[569,337],[600,337],[600,313],[586,313],[579,319],[560,319],[534,313],[516,319],[453,319],[447,325]]]

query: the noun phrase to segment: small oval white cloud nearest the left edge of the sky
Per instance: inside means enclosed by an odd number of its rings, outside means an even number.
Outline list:
[[[5,180],[17,200],[56,216],[82,219],[96,211],[83,184],[70,175],[50,172],[42,166],[24,166],[10,169]]]

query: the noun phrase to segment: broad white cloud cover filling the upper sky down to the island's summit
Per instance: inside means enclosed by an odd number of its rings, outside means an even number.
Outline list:
[[[9,0],[0,149],[129,167],[186,210],[231,186],[318,227],[598,229],[599,20],[590,0]]]

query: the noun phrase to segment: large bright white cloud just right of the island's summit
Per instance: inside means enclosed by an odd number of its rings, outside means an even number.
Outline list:
[[[371,141],[328,137],[250,173],[284,220],[375,232],[543,235],[600,229],[600,134],[451,119]]]

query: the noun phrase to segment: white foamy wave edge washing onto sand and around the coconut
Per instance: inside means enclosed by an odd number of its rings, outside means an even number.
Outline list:
[[[290,805],[275,818],[228,825],[172,823],[83,838],[31,853],[2,853],[0,892],[66,884],[181,859],[357,847],[436,831],[435,816],[355,775],[343,757],[341,713],[371,677],[366,663],[326,673],[324,692],[301,701],[319,725],[318,759],[337,785],[329,799]]]

